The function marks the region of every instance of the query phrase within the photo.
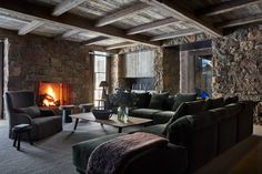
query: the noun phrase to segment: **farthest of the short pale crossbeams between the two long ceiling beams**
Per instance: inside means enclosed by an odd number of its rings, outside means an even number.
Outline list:
[[[202,31],[195,30],[195,29],[185,29],[180,30],[171,33],[160,34],[151,38],[151,41],[160,41],[165,39],[172,39],[172,38],[179,38],[179,37],[187,37],[187,35],[193,35],[196,33],[201,33]]]

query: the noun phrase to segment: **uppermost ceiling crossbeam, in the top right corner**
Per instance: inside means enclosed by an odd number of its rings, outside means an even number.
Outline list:
[[[200,9],[196,11],[199,16],[216,16],[221,13],[225,13],[229,11],[233,11],[236,9],[241,9],[248,6],[255,4],[258,2],[262,2],[261,0],[233,0],[233,1],[225,1],[220,4],[215,4],[212,7],[206,7],[204,9]]]

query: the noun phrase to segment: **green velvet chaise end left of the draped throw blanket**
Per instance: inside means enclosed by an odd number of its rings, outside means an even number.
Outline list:
[[[125,133],[101,136],[74,144],[72,146],[72,153],[73,164],[77,166],[77,170],[81,173],[85,173],[88,160],[93,150],[100,144],[122,135],[125,135]]]

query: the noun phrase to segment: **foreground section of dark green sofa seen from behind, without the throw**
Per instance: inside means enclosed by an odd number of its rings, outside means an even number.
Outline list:
[[[253,102],[238,102],[235,99],[229,102],[222,98],[182,103],[168,122],[140,130],[165,137],[169,143],[135,154],[124,163],[121,173],[193,173],[252,134],[253,108]],[[124,134],[105,135],[73,145],[77,170],[89,173],[89,156],[95,147]]]

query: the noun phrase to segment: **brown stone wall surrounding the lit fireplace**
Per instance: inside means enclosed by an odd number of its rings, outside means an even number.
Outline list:
[[[8,90],[34,90],[36,82],[71,84],[74,104],[92,101],[89,50],[78,43],[0,30],[9,40]]]

